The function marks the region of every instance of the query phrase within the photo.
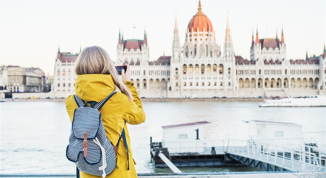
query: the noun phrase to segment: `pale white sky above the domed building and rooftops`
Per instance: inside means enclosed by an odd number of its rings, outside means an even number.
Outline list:
[[[78,53],[80,46],[100,46],[116,60],[119,30],[124,39],[143,39],[150,60],[171,55],[175,17],[181,45],[198,0],[1,0],[0,64],[39,67],[53,74],[58,46]],[[287,59],[320,55],[326,41],[325,0],[201,0],[202,12],[223,51],[227,14],[235,55],[250,59],[251,35],[281,37]],[[136,28],[133,28],[135,26]],[[255,36],[256,38],[256,36]]]

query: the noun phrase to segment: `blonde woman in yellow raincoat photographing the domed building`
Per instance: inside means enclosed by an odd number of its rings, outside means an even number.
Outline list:
[[[100,102],[112,91],[118,91],[104,104],[99,112],[102,114],[101,118],[106,136],[113,146],[117,144],[122,129],[125,129],[129,152],[129,170],[127,170],[128,155],[125,143],[121,139],[117,154],[117,166],[106,178],[137,177],[136,163],[131,159],[132,151],[126,123],[140,124],[144,122],[145,113],[134,83],[130,81],[130,67],[127,65],[126,73],[124,70],[122,71],[121,80],[107,52],[101,47],[91,46],[86,47],[79,54],[75,63],[75,73],[77,74],[76,95],[85,102]],[[72,122],[74,110],[78,108],[74,95],[67,98],[66,107]],[[100,176],[84,172],[80,172],[80,176],[82,178],[100,178]]]

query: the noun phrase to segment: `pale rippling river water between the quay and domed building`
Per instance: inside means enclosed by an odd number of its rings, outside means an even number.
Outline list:
[[[247,139],[243,120],[280,121],[325,126],[325,107],[260,108],[259,102],[143,102],[146,121],[128,125],[138,173],[171,172],[150,162],[150,137],[161,141],[164,125],[209,121],[207,140]],[[1,173],[75,173],[65,156],[71,123],[64,102],[2,102]],[[196,171],[252,171],[250,167],[181,168]]]

